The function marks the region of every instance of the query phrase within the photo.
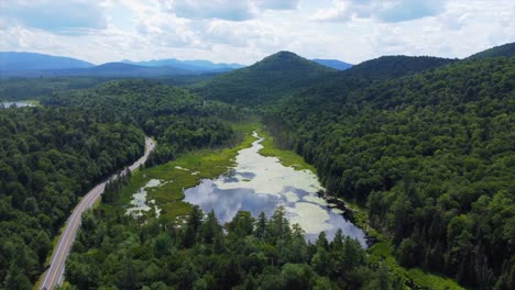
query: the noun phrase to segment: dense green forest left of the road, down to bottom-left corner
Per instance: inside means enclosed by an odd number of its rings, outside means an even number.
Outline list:
[[[31,289],[77,200],[139,158],[144,136],[68,109],[2,109],[0,124],[0,288]]]

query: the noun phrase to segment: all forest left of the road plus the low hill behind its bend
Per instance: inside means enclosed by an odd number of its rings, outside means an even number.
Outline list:
[[[232,107],[152,81],[57,91],[41,102],[47,107],[0,110],[4,289],[31,288],[78,199],[141,156],[143,132],[160,144],[150,165],[237,138],[220,119],[238,118]]]

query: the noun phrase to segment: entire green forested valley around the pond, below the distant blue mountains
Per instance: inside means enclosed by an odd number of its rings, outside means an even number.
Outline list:
[[[2,79],[37,103],[0,110],[2,287],[55,267],[72,215],[56,289],[511,289],[513,47]]]

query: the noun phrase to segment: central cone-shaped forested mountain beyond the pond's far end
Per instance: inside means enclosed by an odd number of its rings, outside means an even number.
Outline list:
[[[280,52],[252,66],[232,70],[193,87],[206,99],[234,104],[274,102],[337,70],[289,52]]]

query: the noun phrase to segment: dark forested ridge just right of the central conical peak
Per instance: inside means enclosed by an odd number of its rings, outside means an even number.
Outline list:
[[[432,56],[382,56],[354,65],[341,74],[354,78],[396,78],[434,69],[452,62],[456,59]]]

